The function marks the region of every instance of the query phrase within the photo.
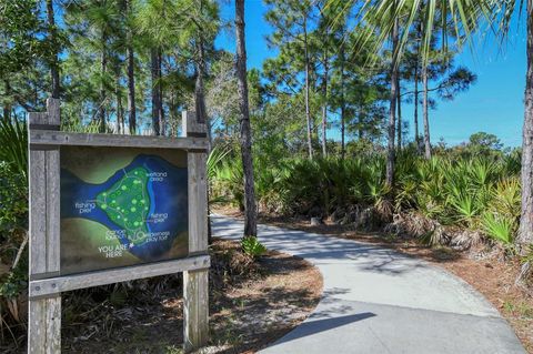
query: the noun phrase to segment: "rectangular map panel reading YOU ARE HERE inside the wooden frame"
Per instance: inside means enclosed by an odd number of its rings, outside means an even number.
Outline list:
[[[187,152],[61,146],[61,275],[188,255]]]

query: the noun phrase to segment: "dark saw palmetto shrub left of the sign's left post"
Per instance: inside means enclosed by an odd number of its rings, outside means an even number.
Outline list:
[[[27,320],[27,136],[24,122],[0,121],[0,334],[11,336]]]

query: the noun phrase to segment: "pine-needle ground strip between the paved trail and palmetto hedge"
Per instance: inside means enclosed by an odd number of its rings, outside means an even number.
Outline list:
[[[218,213],[241,218],[232,208],[217,210]],[[403,254],[423,259],[463,279],[482,293],[511,324],[525,350],[533,353],[533,296],[515,285],[521,264],[517,260],[496,256],[475,257],[474,252],[461,252],[445,246],[428,246],[414,240],[391,237],[382,232],[360,232],[350,225],[338,225],[324,221],[312,226],[309,218],[280,218],[260,215],[260,222],[284,229],[356,240],[385,246]]]

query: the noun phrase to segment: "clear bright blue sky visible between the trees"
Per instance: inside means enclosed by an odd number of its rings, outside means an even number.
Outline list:
[[[266,58],[276,52],[266,47],[265,36],[272,29],[264,20],[265,6],[261,0],[245,1],[247,51],[249,68],[261,69]],[[232,21],[234,8],[231,2],[222,6],[222,18]],[[475,54],[465,49],[456,58],[477,74],[477,82],[454,101],[439,102],[430,113],[431,140],[441,138],[447,144],[466,141],[472,133],[485,131],[496,134],[505,146],[519,146],[522,140],[523,95],[525,87],[526,55],[525,26],[515,24],[505,48],[495,44],[493,38],[474,41]],[[217,40],[219,48],[234,51],[233,31],[223,32]],[[412,104],[403,104],[404,120],[412,120]],[[413,127],[410,127],[411,133]],[[332,131],[330,136],[335,136]]]

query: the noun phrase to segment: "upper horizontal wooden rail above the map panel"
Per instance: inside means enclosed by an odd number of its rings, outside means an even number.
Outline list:
[[[183,150],[205,150],[208,142],[202,138],[165,138],[144,135],[82,134],[48,130],[31,130],[31,145],[83,145],[161,148]]]

